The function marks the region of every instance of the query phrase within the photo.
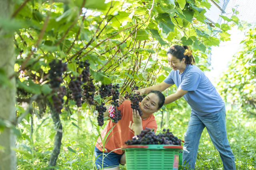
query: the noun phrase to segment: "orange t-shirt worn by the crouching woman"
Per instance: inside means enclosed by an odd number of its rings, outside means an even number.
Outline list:
[[[113,123],[110,120],[100,135],[102,140],[104,140],[104,137],[108,131],[110,131],[110,129],[116,125],[107,137],[105,142],[105,152],[114,150],[113,152],[117,154],[123,154],[124,151],[120,149],[121,146],[125,145],[125,141],[131,140],[132,137],[134,137],[134,123],[132,121],[131,102],[129,100],[125,100],[118,107],[118,110],[121,110],[122,119],[119,120],[118,123]],[[156,132],[157,123],[153,114],[150,115],[146,120],[142,119],[142,128],[145,129],[146,127],[150,129],[154,128],[154,131]],[[102,151],[103,148],[102,140],[99,137],[95,145],[100,151]]]

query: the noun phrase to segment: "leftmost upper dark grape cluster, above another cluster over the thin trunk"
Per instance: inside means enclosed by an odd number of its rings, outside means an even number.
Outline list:
[[[62,73],[67,70],[67,64],[62,63],[60,60],[56,61],[53,60],[49,63],[50,70],[49,70],[49,78],[50,84],[52,88],[58,88],[62,83]]]

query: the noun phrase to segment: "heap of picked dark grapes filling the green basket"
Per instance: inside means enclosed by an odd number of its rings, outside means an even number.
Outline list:
[[[154,129],[148,127],[136,135],[132,140],[125,142],[126,145],[181,145],[181,140],[175,137],[169,129],[163,129],[162,133],[156,135]]]

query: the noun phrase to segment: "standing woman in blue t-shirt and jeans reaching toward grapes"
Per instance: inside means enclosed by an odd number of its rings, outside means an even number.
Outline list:
[[[191,107],[188,128],[184,135],[182,164],[194,169],[199,140],[206,127],[212,143],[220,153],[224,170],[235,170],[234,154],[230,149],[226,132],[226,110],[220,94],[210,80],[197,66],[188,46],[174,45],[167,52],[168,64],[172,71],[158,85],[137,90],[141,95],[150,90],[166,90],[175,84],[178,90],[167,96],[164,104],[178,100],[182,96]]]

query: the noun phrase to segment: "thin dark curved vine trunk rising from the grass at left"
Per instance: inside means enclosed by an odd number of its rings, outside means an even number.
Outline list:
[[[48,166],[52,167],[56,165],[58,155],[60,154],[60,146],[61,146],[61,139],[62,139],[62,124],[60,122],[60,114],[54,110],[54,108],[52,107],[52,104],[48,103],[48,106],[51,109],[52,120],[54,121],[54,127],[56,130],[55,139],[54,139],[54,148],[52,150],[52,154],[50,156],[50,160],[48,163]]]

